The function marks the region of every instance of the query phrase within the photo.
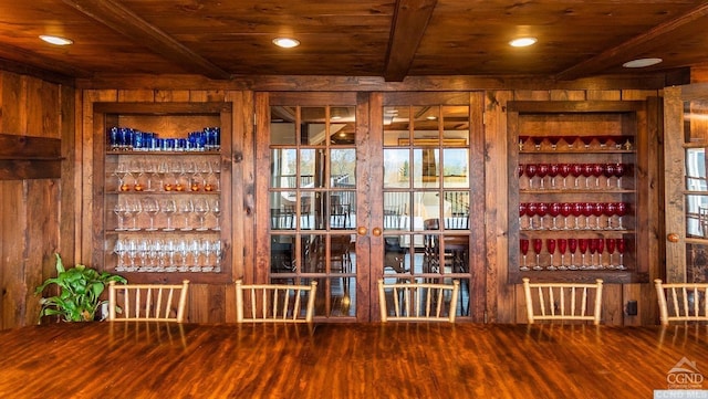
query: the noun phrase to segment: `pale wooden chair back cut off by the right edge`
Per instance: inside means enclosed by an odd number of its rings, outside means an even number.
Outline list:
[[[708,284],[654,281],[662,325],[708,322]]]

